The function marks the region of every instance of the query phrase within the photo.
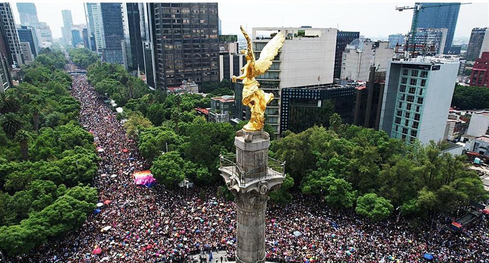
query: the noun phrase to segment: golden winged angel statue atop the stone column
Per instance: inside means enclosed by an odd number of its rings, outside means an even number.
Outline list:
[[[265,121],[265,108],[268,103],[273,100],[272,93],[265,93],[260,90],[260,84],[255,77],[265,73],[271,66],[273,58],[278,54],[278,50],[282,47],[285,37],[282,32],[278,32],[261,50],[258,60],[255,60],[251,39],[246,33],[243,26],[241,31],[247,42],[247,49],[242,50],[245,54],[246,65],[241,68],[243,74],[233,76],[233,82],[240,79],[243,80],[243,100],[242,103],[248,106],[251,111],[249,122],[243,127],[245,132],[255,132],[263,130]]]

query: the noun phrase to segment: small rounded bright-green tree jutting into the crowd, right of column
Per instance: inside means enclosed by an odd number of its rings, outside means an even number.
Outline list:
[[[391,202],[375,193],[364,194],[357,199],[357,214],[367,217],[372,221],[379,221],[389,217],[394,210]]]

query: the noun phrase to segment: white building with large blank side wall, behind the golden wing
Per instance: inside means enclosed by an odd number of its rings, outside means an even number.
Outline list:
[[[287,87],[333,82],[336,28],[257,27],[252,29],[256,59],[272,36],[281,31],[285,42],[270,69],[256,79],[275,99],[268,104],[266,123],[277,132],[280,127],[280,90]]]

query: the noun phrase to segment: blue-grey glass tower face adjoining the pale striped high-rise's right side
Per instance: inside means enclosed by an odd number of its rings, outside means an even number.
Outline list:
[[[120,3],[100,3],[105,47],[102,50],[104,61],[123,63],[121,40],[124,39]]]

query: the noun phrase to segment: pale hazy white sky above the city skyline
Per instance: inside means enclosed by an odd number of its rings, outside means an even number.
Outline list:
[[[112,0],[107,0],[112,1]],[[212,1],[212,0],[208,0]],[[436,0],[435,0],[436,1]],[[10,1],[19,22],[16,1]],[[73,23],[85,23],[83,1],[37,0],[37,15],[46,22],[54,37],[61,37],[61,9],[71,10]],[[412,10],[396,11],[400,5],[414,2],[325,1],[325,0],[218,0],[223,34],[239,32],[240,24],[248,30],[259,26],[335,27],[345,31],[360,31],[367,37],[386,37],[406,33],[411,26]],[[473,2],[473,1],[472,1]],[[246,9],[248,7],[250,9]],[[455,37],[470,37],[472,28],[489,26],[489,3],[461,5]]]

